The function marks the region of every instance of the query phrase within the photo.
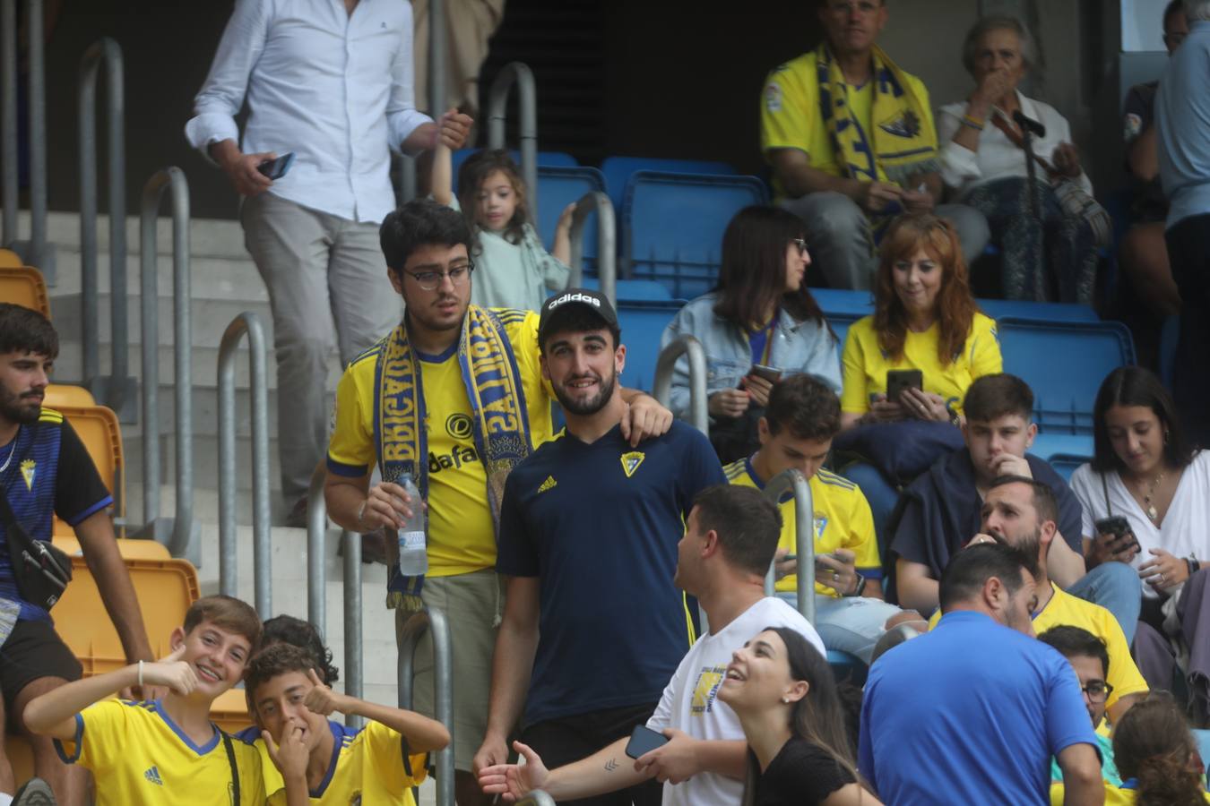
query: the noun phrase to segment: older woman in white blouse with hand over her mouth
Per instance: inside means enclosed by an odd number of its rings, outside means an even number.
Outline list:
[[[975,88],[966,102],[943,106],[938,115],[941,178],[958,201],[987,218],[992,243],[1003,256],[1001,290],[1010,300],[1090,302],[1096,240],[1082,218],[1064,214],[1048,174],[1073,179],[1089,195],[1093,184],[1081,168],[1066,118],[1016,88],[1035,63],[1028,29],[1013,17],[980,19],[967,34],[962,63]],[[1028,196],[1018,112],[1045,129],[1033,135],[1041,163],[1037,208]]]

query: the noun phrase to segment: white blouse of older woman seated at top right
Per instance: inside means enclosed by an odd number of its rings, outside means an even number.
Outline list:
[[[1060,143],[1071,143],[1071,126],[1067,124],[1067,118],[1055,111],[1054,106],[1026,98],[1020,92],[1016,93],[1016,103],[1020,105],[1022,115],[1038,121],[1047,128],[1045,137],[1033,138],[1033,153],[1054,164],[1055,147]],[[979,133],[978,151],[972,151],[953,141],[953,135],[962,126],[962,116],[966,114],[967,102],[963,100],[943,106],[937,120],[937,138],[941,144],[941,179],[946,186],[957,190],[961,198],[972,187],[984,182],[1009,176],[1025,179],[1028,175],[1025,167],[1025,152],[999,131],[991,116],[987,117],[984,131]],[[1006,117],[998,108],[992,108],[991,114],[1012,120]],[[1045,180],[1045,170],[1042,166],[1037,168],[1038,179]],[[1081,172],[1079,179],[1076,181],[1089,193],[1093,192],[1093,182],[1088,174]]]

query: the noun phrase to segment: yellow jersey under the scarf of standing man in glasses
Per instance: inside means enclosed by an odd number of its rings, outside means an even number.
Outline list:
[[[538,363],[537,321],[531,311],[495,308],[517,359],[525,392],[532,447],[551,439],[551,401]],[[456,348],[455,348],[456,349]],[[428,441],[427,576],[467,574],[496,564],[496,534],[488,505],[488,476],[474,443],[471,401],[455,349],[419,356]],[[336,427],[328,446],[334,472],[364,475],[378,462],[374,376],[378,348],[355,359],[336,388]]]

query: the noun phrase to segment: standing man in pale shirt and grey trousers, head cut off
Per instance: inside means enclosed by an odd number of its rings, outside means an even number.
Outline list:
[[[305,522],[307,486],[328,443],[328,356],[347,365],[401,317],[379,248],[394,209],[390,150],[471,120],[416,111],[411,8],[404,0],[238,0],[194,102],[185,135],[243,197],[244,245],[273,311],[282,493]],[[242,147],[235,116],[248,102]],[[261,163],[293,153],[271,180]]]

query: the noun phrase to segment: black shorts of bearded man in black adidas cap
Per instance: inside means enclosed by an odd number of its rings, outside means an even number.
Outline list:
[[[522,741],[542,756],[547,770],[561,767],[592,755],[603,747],[629,736],[635,725],[646,725],[656,703],[609,708],[575,717],[548,719],[522,731]],[[634,764],[622,755],[618,764]],[[561,806],[659,806],[664,787],[652,778],[635,787],[595,798],[560,800]]]

